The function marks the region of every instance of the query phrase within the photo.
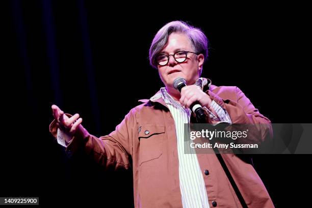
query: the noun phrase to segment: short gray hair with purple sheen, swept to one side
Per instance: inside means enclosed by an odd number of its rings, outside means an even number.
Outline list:
[[[204,61],[208,58],[209,41],[205,34],[198,28],[183,21],[172,21],[167,23],[155,35],[149,48],[149,63],[152,67],[157,68],[158,63],[155,61],[156,56],[160,53],[168,41],[171,33],[186,34],[193,45],[196,54],[203,54]]]

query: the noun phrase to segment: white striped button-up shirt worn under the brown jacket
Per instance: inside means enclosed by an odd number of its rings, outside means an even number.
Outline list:
[[[198,84],[198,82],[196,82],[196,85],[200,86],[201,89],[204,84],[205,83]],[[184,108],[179,102],[175,101],[168,94],[166,88],[161,88],[161,93],[162,98],[169,108],[175,122],[179,160],[179,184],[183,207],[210,207],[197,155],[194,152],[194,149],[191,148],[187,150],[188,152],[191,152],[191,154],[185,153],[185,148],[190,147],[190,145],[185,145],[184,124],[190,123],[191,110],[189,108]],[[219,122],[231,123],[227,112],[215,101],[212,101],[211,107],[214,108],[218,117],[213,115],[211,111],[204,107],[204,109],[209,113],[210,118]]]

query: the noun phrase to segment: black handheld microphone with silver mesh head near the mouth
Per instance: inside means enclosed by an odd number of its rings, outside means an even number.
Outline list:
[[[181,77],[178,77],[173,81],[174,89],[178,90],[179,92],[181,92],[181,89],[185,86],[187,86],[186,80]],[[192,103],[190,109],[195,113],[197,122],[199,123],[206,122],[206,114],[198,101]]]

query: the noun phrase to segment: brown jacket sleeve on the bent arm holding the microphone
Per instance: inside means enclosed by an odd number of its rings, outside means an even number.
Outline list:
[[[249,129],[246,139],[235,140],[235,143],[250,143],[263,145],[270,142],[273,137],[271,121],[259,113],[250,100],[238,87],[226,87],[223,99],[214,92],[206,91],[229,114],[233,124],[229,126],[230,131],[246,131]]]

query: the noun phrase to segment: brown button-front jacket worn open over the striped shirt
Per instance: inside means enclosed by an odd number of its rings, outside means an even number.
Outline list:
[[[85,131],[84,135],[74,136],[66,148],[75,153],[83,145],[84,151],[105,168],[132,168],[135,207],[182,207],[175,124],[159,93],[141,100],[144,103],[133,108],[111,134],[96,138]],[[233,123],[269,124],[259,143],[270,134],[270,120],[254,108],[239,88],[212,85],[205,93],[226,109]],[[50,132],[56,137],[55,121],[50,124]],[[216,155],[197,157],[210,206],[215,201],[217,207],[241,207]],[[222,154],[222,158],[248,207],[274,207],[251,164],[235,154]],[[206,169],[208,175],[204,174]]]

